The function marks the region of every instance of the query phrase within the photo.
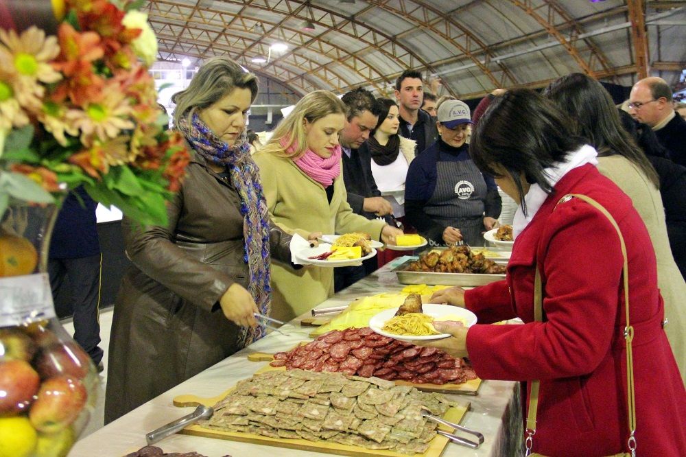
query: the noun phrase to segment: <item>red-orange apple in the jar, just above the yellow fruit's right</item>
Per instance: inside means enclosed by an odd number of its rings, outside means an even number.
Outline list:
[[[38,432],[60,432],[79,416],[87,396],[79,379],[51,377],[40,384],[38,397],[29,410],[29,421]]]

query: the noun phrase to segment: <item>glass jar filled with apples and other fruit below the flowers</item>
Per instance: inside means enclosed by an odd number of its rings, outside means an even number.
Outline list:
[[[52,301],[57,213],[17,202],[0,218],[0,457],[66,456],[95,407],[96,368]]]

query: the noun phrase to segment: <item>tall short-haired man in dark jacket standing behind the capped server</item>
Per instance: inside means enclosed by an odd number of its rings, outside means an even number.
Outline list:
[[[414,154],[418,155],[438,138],[434,119],[421,109],[424,97],[424,82],[421,73],[405,70],[395,82],[395,97],[400,110],[398,133],[416,141]]]

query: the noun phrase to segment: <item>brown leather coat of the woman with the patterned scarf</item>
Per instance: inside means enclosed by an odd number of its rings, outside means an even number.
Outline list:
[[[196,154],[167,227],[123,220],[132,266],[113,315],[106,423],[241,349],[217,303],[233,283],[248,285],[239,209],[236,189]],[[272,224],[272,261],[289,263],[290,239]]]

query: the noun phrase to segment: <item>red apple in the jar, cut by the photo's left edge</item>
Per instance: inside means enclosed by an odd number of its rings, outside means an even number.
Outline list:
[[[0,362],[0,414],[27,410],[39,385],[40,377],[28,362]]]

